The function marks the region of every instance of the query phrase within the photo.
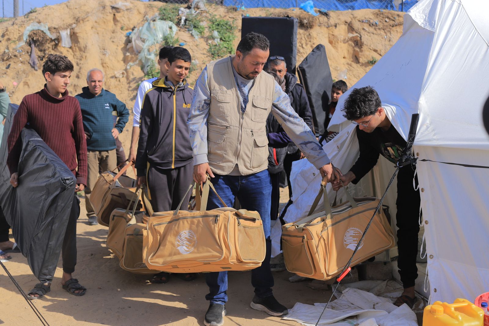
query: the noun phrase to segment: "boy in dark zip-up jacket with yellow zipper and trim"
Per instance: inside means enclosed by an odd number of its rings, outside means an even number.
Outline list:
[[[192,57],[187,49],[174,47],[168,55],[168,75],[153,82],[141,107],[139,142],[136,155],[137,186],[148,185],[154,211],[175,210],[183,197],[190,200],[194,159],[187,127],[193,89],[185,77]],[[166,283],[169,273],[153,277]],[[192,280],[195,274],[185,274]]]

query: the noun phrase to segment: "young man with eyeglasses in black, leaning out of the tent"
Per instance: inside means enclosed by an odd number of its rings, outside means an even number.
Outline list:
[[[360,149],[356,163],[350,171],[340,177],[344,186],[360,181],[377,164],[379,154],[392,163],[399,161],[406,147],[406,140],[400,136],[386,116],[378,93],[371,86],[354,89],[346,99],[343,111],[344,116],[357,125],[356,138]],[[415,184],[418,184],[414,170],[414,165],[399,170],[396,201],[396,225],[399,228],[398,267],[404,291],[394,304],[400,306],[406,303],[411,308],[416,302],[414,284],[418,277],[416,255],[420,231],[420,193],[413,186],[413,179]],[[333,182],[333,190],[340,187],[340,182]]]

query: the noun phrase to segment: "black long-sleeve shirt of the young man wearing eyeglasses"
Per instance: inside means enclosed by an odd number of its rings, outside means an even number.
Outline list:
[[[356,138],[360,156],[350,169],[356,176],[353,181],[355,185],[377,164],[379,154],[392,163],[397,163],[406,147],[406,140],[400,136],[393,125],[386,131],[376,128],[372,133],[361,131],[356,126]]]

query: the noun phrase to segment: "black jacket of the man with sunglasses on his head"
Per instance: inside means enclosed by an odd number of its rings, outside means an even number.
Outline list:
[[[289,72],[285,74],[285,93],[290,97],[290,105],[312,130],[312,113],[309,107],[306,91],[297,83],[297,77]],[[297,152],[297,146],[292,142],[287,147],[287,153]]]

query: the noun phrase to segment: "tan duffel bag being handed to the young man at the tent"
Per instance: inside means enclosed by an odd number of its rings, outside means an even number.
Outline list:
[[[348,201],[330,207],[326,184],[322,182],[308,216],[282,226],[282,250],[290,272],[325,280],[340,274],[346,266],[379,200],[375,197],[353,198],[346,188],[345,192]],[[324,211],[314,213],[321,196]],[[394,245],[394,234],[380,209],[350,266]]]

